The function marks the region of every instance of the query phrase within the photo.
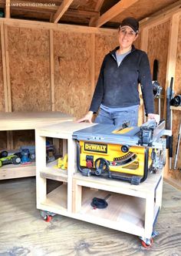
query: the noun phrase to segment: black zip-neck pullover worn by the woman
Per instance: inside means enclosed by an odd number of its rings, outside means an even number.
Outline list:
[[[131,52],[117,66],[117,49],[119,46],[104,57],[89,110],[96,113],[101,103],[112,108],[139,105],[140,83],[146,115],[154,113],[150,63],[146,52],[132,45]]]

